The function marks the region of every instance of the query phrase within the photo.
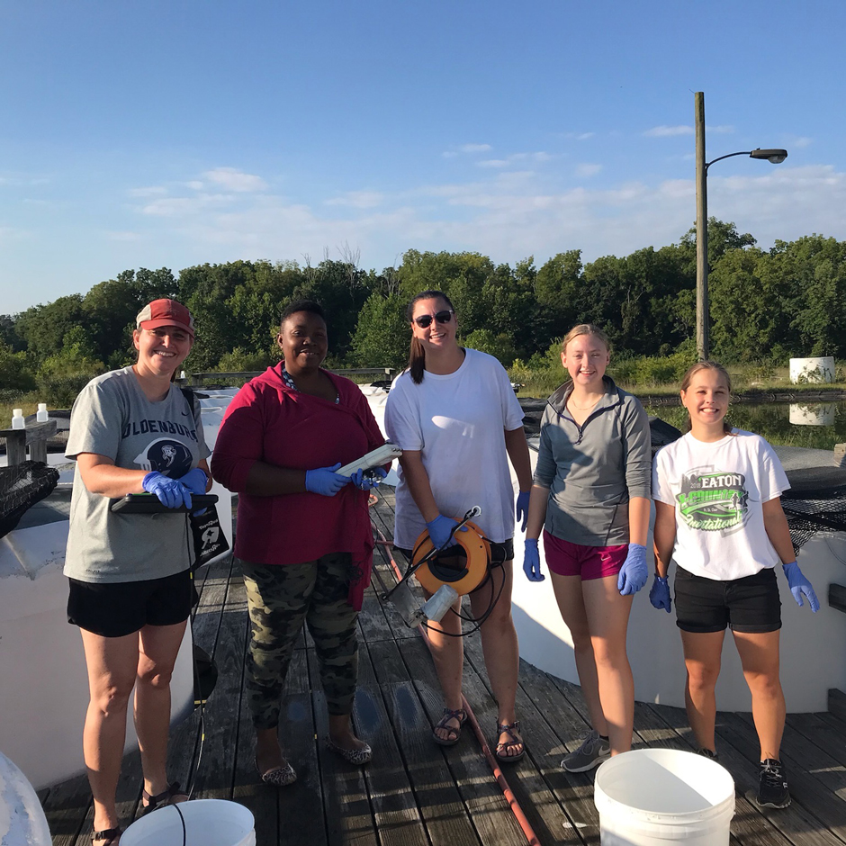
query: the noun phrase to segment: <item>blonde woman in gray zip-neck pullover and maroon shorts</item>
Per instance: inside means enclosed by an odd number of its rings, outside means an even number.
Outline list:
[[[626,656],[634,594],[647,577],[649,421],[605,374],[608,338],[590,324],[562,344],[570,375],[547,401],[529,504],[523,569],[543,581],[544,531],[555,599],[572,634],[591,732],[562,767],[583,772],[632,745],[635,683]]]

